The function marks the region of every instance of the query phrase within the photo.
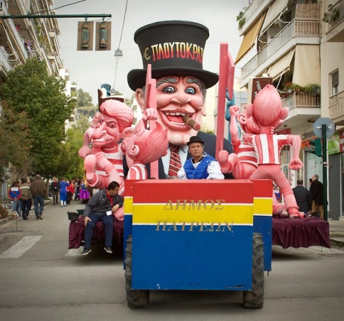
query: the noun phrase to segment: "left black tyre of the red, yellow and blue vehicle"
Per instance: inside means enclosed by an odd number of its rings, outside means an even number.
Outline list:
[[[149,290],[131,289],[131,265],[133,254],[133,242],[131,235],[127,239],[125,249],[125,291],[127,292],[127,305],[131,309],[147,308],[149,303]]]

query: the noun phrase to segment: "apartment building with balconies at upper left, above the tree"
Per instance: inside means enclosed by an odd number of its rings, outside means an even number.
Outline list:
[[[52,8],[52,0],[0,1],[0,82],[10,69],[29,57],[45,60],[48,73],[60,76],[60,69],[64,68],[58,44],[60,30]],[[18,17],[27,14],[37,17]],[[51,14],[52,18],[40,18],[40,14]]]

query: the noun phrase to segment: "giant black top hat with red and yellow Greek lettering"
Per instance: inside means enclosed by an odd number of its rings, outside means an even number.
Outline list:
[[[208,36],[207,27],[191,21],[160,21],[144,25],[134,34],[144,69],[129,71],[129,87],[135,91],[144,86],[148,64],[151,64],[152,78],[195,76],[206,88],[212,87],[219,76],[203,70],[202,65]]]

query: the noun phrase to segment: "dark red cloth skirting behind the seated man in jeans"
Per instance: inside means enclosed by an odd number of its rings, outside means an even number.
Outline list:
[[[124,221],[114,220],[114,239],[113,245],[123,245],[123,228]],[[69,224],[69,249],[77,249],[80,247],[81,242],[84,239],[85,234],[85,222],[83,215],[79,215],[78,221],[71,221]],[[101,222],[96,223],[96,228],[93,230],[92,239],[96,241],[103,241],[105,239],[104,225]]]

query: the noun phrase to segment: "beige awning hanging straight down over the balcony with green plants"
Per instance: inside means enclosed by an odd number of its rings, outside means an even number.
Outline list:
[[[319,45],[297,45],[292,82],[301,86],[320,84]]]

